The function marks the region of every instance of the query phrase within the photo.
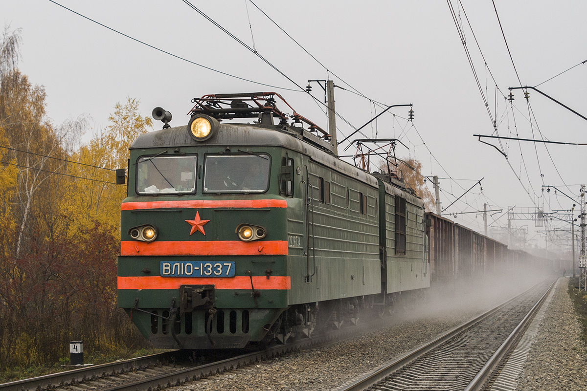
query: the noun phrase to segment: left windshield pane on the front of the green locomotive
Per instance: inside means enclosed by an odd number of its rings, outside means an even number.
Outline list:
[[[194,193],[197,160],[196,156],[140,157],[137,193]]]

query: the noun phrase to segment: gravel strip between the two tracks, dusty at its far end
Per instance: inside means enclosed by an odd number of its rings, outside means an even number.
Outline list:
[[[424,344],[488,308],[512,297],[507,288],[480,281],[475,289],[451,287],[448,294],[435,291],[426,304],[390,318],[386,327],[330,342],[312,349],[259,362],[210,376],[174,391],[204,390],[332,390],[390,359]],[[516,284],[504,284],[517,286]],[[484,290],[483,287],[487,287]],[[491,290],[492,293],[488,293]]]

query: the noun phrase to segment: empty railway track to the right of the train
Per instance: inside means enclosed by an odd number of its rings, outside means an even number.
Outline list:
[[[538,284],[336,391],[490,389],[554,284]]]

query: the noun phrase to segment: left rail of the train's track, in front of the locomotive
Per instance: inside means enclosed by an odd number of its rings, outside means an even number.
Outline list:
[[[86,366],[84,368],[67,370],[65,372],[51,373],[32,379],[16,380],[14,382],[0,384],[2,391],[35,391],[37,389],[50,389],[62,384],[75,384],[87,379],[101,378],[107,373],[134,370],[155,363],[170,362],[176,357],[178,351],[157,353],[154,355],[132,358],[114,363]]]

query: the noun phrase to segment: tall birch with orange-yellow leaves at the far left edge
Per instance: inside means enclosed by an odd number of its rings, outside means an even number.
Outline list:
[[[5,152],[2,160],[4,170],[16,169],[16,189],[12,199],[17,233],[14,254],[21,256],[26,237],[31,236],[30,223],[32,209],[35,206],[48,207],[38,217],[49,223],[53,233],[55,217],[52,213],[59,196],[56,193],[62,186],[50,181],[62,181],[66,171],[66,142],[75,140],[76,134],[83,130],[84,121],[67,121],[55,128],[46,120],[46,93],[42,86],[33,85],[22,74],[18,63],[18,30],[8,33],[6,30],[0,47],[0,140],[4,144],[0,149]],[[53,175],[58,174],[53,177]],[[39,191],[46,186],[43,196],[37,198]],[[50,197],[52,195],[53,197]],[[45,227],[45,228],[46,228]]]

